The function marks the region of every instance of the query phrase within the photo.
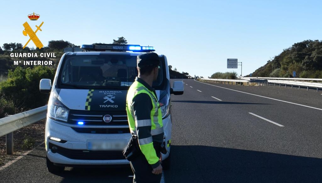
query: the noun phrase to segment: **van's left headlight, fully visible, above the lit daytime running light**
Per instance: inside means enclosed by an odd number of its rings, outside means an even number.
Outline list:
[[[48,103],[48,116],[49,118],[67,122],[69,109],[65,107],[54,95]]]

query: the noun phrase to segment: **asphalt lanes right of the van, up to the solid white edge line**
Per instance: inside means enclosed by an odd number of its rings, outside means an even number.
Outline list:
[[[166,182],[322,181],[321,110],[184,82],[184,95],[172,98],[174,165]]]

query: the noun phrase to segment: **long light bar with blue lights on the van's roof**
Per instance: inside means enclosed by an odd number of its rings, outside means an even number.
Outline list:
[[[133,52],[155,51],[154,47],[150,47],[150,46],[120,45],[120,44],[81,45],[81,48],[87,51],[133,51]]]

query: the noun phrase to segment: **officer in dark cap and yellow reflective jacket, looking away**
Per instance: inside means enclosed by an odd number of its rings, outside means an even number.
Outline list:
[[[127,95],[128,124],[132,135],[137,135],[141,154],[130,162],[134,183],[159,183],[161,180],[163,124],[160,104],[152,88],[158,75],[159,56],[154,52],[137,56],[138,76]]]

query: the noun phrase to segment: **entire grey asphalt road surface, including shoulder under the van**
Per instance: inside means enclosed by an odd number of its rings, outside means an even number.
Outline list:
[[[322,182],[322,92],[184,82],[184,94],[172,96],[166,183]],[[0,170],[0,182],[131,182],[131,176],[129,167],[51,174],[42,146]]]

